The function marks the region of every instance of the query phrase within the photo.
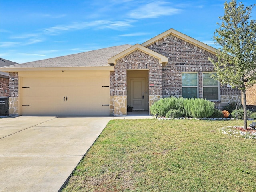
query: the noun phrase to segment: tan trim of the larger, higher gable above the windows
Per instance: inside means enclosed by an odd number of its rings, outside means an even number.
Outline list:
[[[142,43],[141,45],[144,46],[144,47],[147,47],[147,46],[153,44],[154,42],[156,42],[156,41],[158,41],[158,40],[160,40],[160,39],[162,39],[162,38],[164,38],[164,37],[166,37],[170,34],[173,35],[173,36],[176,36],[176,37],[178,37],[178,38],[180,38],[180,39],[182,39],[186,42],[189,42],[189,43],[191,43],[195,46],[198,46],[198,47],[200,47],[200,48],[202,48],[202,49],[204,49],[204,50],[206,50],[206,51],[208,51],[212,54],[216,54],[216,52],[218,51],[216,48],[213,48],[213,47],[211,47],[207,44],[204,44],[204,43],[202,43],[202,42],[200,42],[200,41],[198,41],[198,40],[196,40],[196,39],[194,39],[190,36],[187,36],[187,35],[185,35],[181,32],[178,32],[174,29],[169,29],[166,32],[163,32],[163,33],[159,34],[158,36],[155,36],[155,37],[151,38],[150,40]]]

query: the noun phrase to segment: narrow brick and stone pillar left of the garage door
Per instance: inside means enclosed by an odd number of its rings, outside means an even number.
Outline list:
[[[18,116],[19,114],[19,77],[18,73],[9,73],[10,78],[14,81],[9,81],[9,116]]]

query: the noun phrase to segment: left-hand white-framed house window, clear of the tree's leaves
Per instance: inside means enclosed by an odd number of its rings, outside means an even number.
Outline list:
[[[198,98],[198,73],[182,73],[182,97]]]

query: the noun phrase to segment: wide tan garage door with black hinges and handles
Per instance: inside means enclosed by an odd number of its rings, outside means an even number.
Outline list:
[[[22,115],[109,115],[109,77],[23,77]]]

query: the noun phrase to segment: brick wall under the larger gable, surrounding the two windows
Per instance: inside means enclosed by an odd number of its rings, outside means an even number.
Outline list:
[[[209,57],[216,59],[214,54],[171,34],[150,44],[147,48],[169,59],[168,63],[162,66],[163,97],[182,96],[182,72],[198,72],[198,96],[203,97],[202,73],[214,70],[213,64],[208,60]],[[220,86],[220,95],[224,94],[228,98],[231,96],[232,99],[229,99],[229,102],[232,102],[234,98],[238,99],[240,90]],[[224,101],[223,96],[220,99],[220,102],[224,103],[216,103],[217,105],[228,104],[228,99]]]

